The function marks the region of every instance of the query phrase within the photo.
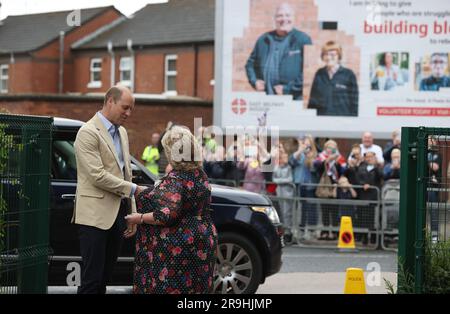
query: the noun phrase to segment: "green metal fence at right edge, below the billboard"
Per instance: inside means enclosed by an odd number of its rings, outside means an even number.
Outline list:
[[[398,287],[411,292],[406,277],[415,293],[432,292],[436,256],[447,263],[438,265],[442,280],[450,279],[450,128],[402,128],[401,150]]]

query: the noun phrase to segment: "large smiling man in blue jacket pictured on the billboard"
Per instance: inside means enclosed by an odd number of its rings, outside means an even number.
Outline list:
[[[311,38],[294,28],[294,10],[282,3],[275,11],[275,30],[261,35],[245,66],[250,84],[268,95],[292,95],[301,99],[303,46]]]

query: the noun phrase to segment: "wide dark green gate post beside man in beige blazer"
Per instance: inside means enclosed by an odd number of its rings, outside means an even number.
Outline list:
[[[37,120],[34,120],[37,119]],[[22,127],[19,227],[19,293],[47,293],[52,119]]]

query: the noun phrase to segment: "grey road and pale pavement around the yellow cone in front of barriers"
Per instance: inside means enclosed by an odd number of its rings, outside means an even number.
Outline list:
[[[371,273],[369,280],[367,279],[368,266],[379,267],[379,284],[375,273]],[[397,254],[394,252],[341,253],[329,248],[288,246],[284,248],[281,271],[267,278],[257,293],[341,294],[344,290],[346,269],[349,267],[364,270],[368,294],[387,293],[383,278],[393,284],[397,283]]]

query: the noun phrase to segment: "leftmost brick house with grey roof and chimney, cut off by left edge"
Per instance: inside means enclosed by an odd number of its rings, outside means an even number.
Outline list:
[[[71,45],[123,15],[112,6],[80,10],[79,20],[76,17],[70,20],[71,13],[73,11],[8,16],[2,21],[1,93],[73,90]]]

